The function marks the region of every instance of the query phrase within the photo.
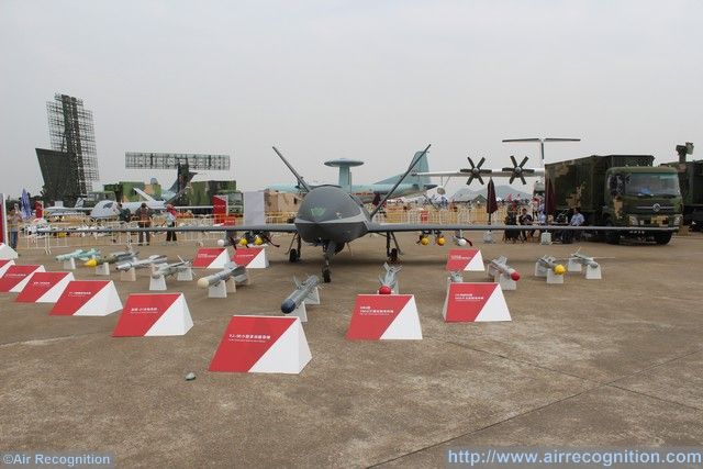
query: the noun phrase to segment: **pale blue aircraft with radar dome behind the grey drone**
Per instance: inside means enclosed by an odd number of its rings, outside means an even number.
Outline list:
[[[413,165],[412,170],[417,172],[417,175],[409,176],[398,188],[395,188],[394,197],[409,197],[416,194],[424,194],[427,190],[435,188],[437,185],[433,185],[429,181],[429,177],[421,175],[421,172],[428,171],[429,166],[427,163],[427,154],[422,156],[422,152],[415,153],[415,157],[420,157],[416,163]],[[395,182],[398,182],[402,174],[391,176],[387,179],[380,180],[378,182],[373,182],[370,185],[355,185],[352,181],[352,169],[355,166],[361,166],[364,161],[358,159],[331,159],[325,161],[325,166],[330,166],[333,168],[339,168],[339,176],[337,179],[337,185],[339,188],[349,192],[352,196],[355,196],[364,203],[373,203],[378,204],[382,196],[386,196],[393,187]],[[320,186],[332,186],[332,185],[315,185],[308,183],[310,189],[315,189]],[[274,185],[268,186],[266,189],[277,190],[280,192],[294,192],[301,193],[305,192],[305,190],[297,185]]]

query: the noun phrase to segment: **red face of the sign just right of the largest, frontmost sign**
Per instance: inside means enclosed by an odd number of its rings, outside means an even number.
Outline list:
[[[347,338],[380,339],[412,297],[412,294],[357,295]]]

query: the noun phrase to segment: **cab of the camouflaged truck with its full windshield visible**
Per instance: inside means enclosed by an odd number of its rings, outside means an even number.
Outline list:
[[[681,191],[679,176],[673,168],[609,168],[604,191],[602,222],[605,225],[672,228],[681,225]],[[655,235],[658,244],[667,244],[670,239],[671,232]]]

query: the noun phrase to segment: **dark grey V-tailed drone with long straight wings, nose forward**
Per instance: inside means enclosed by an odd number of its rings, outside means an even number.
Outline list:
[[[292,233],[294,235],[289,249],[289,260],[291,263],[300,259],[300,250],[302,242],[310,243],[315,246],[322,246],[324,255],[324,267],[322,276],[325,282],[331,281],[330,263],[332,257],[339,253],[347,243],[350,243],[369,233],[379,233],[386,236],[386,254],[392,260],[400,254],[400,247],[395,239],[395,233],[399,232],[421,232],[423,234],[436,233],[442,231],[489,231],[489,230],[516,230],[514,225],[443,225],[431,223],[377,223],[373,222],[373,215],[383,206],[386,201],[390,199],[395,188],[405,179],[416,165],[417,160],[427,153],[431,145],[416,154],[405,174],[395,182],[395,186],[386,194],[383,200],[370,213],[364,206],[364,203],[355,196],[349,194],[337,186],[319,186],[313,189],[308,186],[302,176],[288,163],[283,155],[274,147],[276,154],[281,158],[290,171],[295,176],[300,187],[306,192],[298,214],[293,223],[282,224],[260,224],[260,225],[238,225],[235,230],[226,233],[231,244],[236,245],[235,236],[237,232],[254,234],[268,233]],[[540,225],[540,230],[554,231],[633,231],[625,226],[553,226]],[[666,227],[638,227],[641,232],[661,232],[674,231],[676,228]],[[179,227],[158,227],[158,228],[79,228],[76,232],[222,232],[220,227],[205,226],[179,226]],[[41,233],[57,233],[60,230],[38,230]],[[391,249],[391,241],[394,248]],[[292,248],[297,243],[297,248]]]

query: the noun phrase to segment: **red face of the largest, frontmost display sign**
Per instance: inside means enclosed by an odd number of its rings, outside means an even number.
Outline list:
[[[297,317],[233,316],[210,362],[210,371],[247,372]]]

